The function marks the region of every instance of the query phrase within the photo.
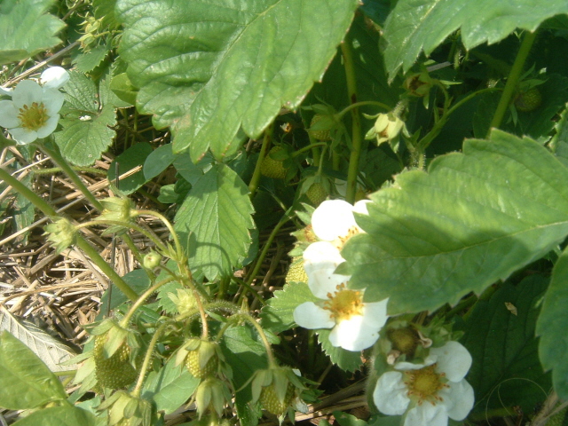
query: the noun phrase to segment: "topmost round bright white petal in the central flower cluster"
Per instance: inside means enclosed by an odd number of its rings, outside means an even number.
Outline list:
[[[346,237],[355,225],[353,206],[347,201],[323,201],[312,214],[313,232],[319,240],[334,241]]]

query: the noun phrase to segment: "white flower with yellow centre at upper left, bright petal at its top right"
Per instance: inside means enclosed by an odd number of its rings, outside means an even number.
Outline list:
[[[8,94],[12,100],[0,100],[0,126],[19,145],[45,138],[56,129],[64,96],[59,91],[69,75],[61,67],[48,68],[39,82],[24,80]]]

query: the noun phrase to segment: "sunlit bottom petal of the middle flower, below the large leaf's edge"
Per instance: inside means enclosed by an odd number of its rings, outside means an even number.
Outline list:
[[[363,351],[375,344],[381,327],[368,327],[361,315],[343,319],[331,330],[329,342],[347,351]]]

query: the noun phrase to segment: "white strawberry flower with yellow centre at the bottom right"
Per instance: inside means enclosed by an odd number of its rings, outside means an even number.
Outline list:
[[[464,379],[471,355],[461,343],[431,348],[423,364],[399,362],[376,383],[375,406],[388,415],[406,414],[404,426],[446,426],[448,417],[461,421],[475,401]]]

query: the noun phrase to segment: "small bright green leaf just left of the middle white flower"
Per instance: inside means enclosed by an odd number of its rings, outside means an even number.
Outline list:
[[[312,290],[304,282],[290,282],[283,289],[275,291],[260,314],[264,329],[280,333],[295,326],[294,310],[304,302],[317,302]]]

